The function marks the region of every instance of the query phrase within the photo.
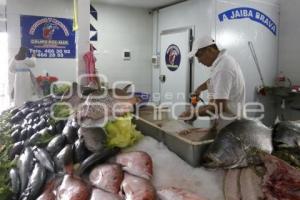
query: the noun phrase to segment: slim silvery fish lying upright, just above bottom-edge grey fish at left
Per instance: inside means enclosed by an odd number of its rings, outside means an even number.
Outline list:
[[[21,192],[23,192],[27,187],[29,176],[33,168],[33,153],[30,147],[25,148],[24,153],[20,156],[18,168],[21,180]]]

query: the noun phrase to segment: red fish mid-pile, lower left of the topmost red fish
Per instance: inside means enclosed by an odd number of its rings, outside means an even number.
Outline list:
[[[123,181],[123,170],[117,164],[104,164],[95,167],[89,179],[93,186],[117,194]]]

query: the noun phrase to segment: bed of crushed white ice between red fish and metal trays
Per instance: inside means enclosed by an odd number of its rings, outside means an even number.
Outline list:
[[[224,199],[224,170],[194,168],[152,137],[145,137],[125,151],[144,151],[153,160],[153,184],[156,188],[176,187],[209,200]]]

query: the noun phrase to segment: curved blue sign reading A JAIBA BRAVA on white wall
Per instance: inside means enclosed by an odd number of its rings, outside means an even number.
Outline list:
[[[277,35],[277,25],[275,24],[275,22],[266,14],[254,8],[234,8],[219,14],[219,20],[221,22],[224,22],[225,20],[236,20],[244,18],[248,18],[252,21],[262,24],[274,35]]]

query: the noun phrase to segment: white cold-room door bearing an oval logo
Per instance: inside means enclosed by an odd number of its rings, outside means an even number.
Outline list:
[[[164,106],[186,103],[190,92],[190,51],[191,29],[182,28],[161,33],[161,103]],[[170,106],[169,106],[170,107]],[[181,107],[181,108],[180,108]],[[185,108],[176,107],[179,114]]]

